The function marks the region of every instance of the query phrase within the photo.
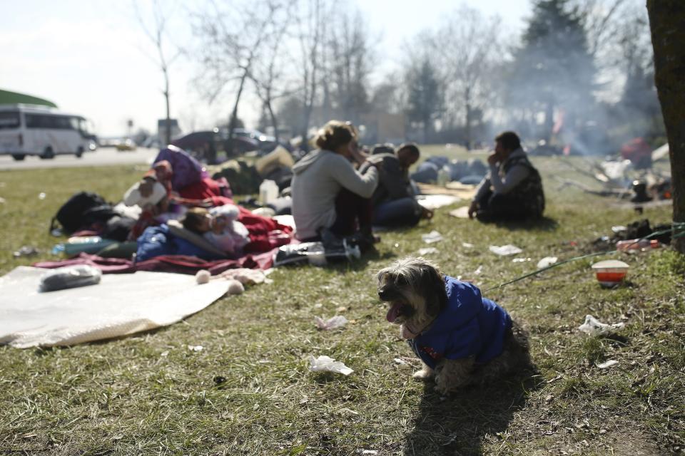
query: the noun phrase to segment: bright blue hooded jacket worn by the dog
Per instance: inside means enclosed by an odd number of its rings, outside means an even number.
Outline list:
[[[487,363],[502,353],[504,336],[512,327],[507,311],[480,295],[477,286],[445,276],[447,307],[427,331],[407,342],[427,366],[443,358],[475,356]]]

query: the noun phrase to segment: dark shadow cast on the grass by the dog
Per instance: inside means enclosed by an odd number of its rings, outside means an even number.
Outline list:
[[[532,390],[542,385],[534,367],[484,385],[460,390],[448,398],[425,385],[403,455],[483,455],[486,435],[507,430],[514,413],[522,410]]]

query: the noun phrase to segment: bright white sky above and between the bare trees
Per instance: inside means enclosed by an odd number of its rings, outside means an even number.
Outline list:
[[[529,0],[462,3],[486,16],[497,14],[511,36],[530,14]],[[137,9],[152,24],[150,5],[149,0],[0,0],[0,89],[47,98],[61,110],[83,115],[101,137],[125,135],[128,120],[133,120],[133,130],[155,131],[157,119],[165,115],[163,76],[136,14]],[[357,6],[378,37],[380,68],[392,71],[406,41],[435,27],[460,3],[365,0]],[[174,46],[193,40],[188,10],[180,2],[172,5],[169,31]],[[217,119],[228,117],[233,103],[232,93],[212,104],[204,100],[193,84],[198,71],[193,56],[180,56],[171,66],[171,117],[186,132],[213,127]],[[257,122],[257,105],[250,96],[240,104],[238,115],[248,127]]]

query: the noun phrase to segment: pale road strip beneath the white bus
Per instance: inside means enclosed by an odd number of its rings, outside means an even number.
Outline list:
[[[41,160],[39,157],[26,157],[21,162],[14,160],[11,155],[0,155],[0,170],[135,165],[138,163],[151,163],[158,152],[158,149],[147,149],[146,147],[138,147],[136,150],[126,152],[117,152],[114,147],[102,147],[95,152],[84,153],[81,158],[76,158],[75,155],[56,155],[51,160]]]

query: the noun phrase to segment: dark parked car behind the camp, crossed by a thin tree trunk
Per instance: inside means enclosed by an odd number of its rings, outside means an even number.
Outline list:
[[[228,136],[221,134],[218,128],[189,133],[172,140],[171,144],[181,147],[181,149],[193,153],[198,159],[209,163],[216,162],[218,152],[230,150]],[[233,145],[233,154],[235,155],[260,148],[258,141],[243,136],[235,136]]]

